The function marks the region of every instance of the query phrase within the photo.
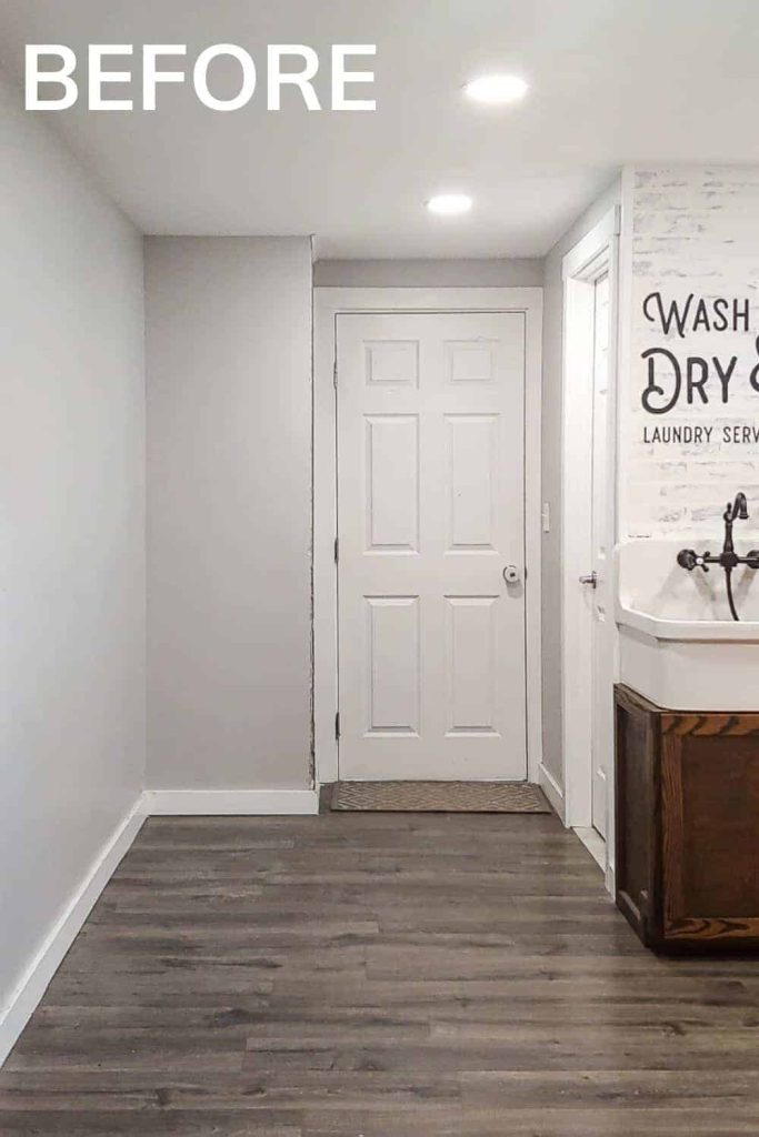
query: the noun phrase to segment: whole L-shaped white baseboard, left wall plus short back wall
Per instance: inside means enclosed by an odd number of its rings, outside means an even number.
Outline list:
[[[0,1011],[0,1067],[16,1045],[100,894],[149,816],[272,816],[319,813],[319,790],[146,790],[94,857]]]

